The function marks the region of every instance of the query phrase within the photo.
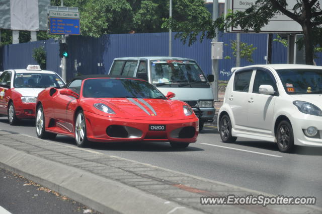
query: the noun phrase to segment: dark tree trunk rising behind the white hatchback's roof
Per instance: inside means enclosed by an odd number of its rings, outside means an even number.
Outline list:
[[[313,43],[312,43],[312,27],[310,22],[304,22],[302,25],[304,34],[304,48],[305,48],[305,63],[313,64]]]

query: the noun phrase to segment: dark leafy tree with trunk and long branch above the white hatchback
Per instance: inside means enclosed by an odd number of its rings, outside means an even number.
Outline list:
[[[297,4],[293,7],[293,12],[286,10],[288,6],[286,0],[257,0],[256,3],[246,11],[230,12],[226,17],[220,17],[216,21],[209,23],[204,21],[204,25],[192,29],[194,32],[202,32],[201,40],[206,36],[211,39],[215,36],[214,29],[224,30],[228,27],[239,27],[247,32],[254,29],[259,32],[261,28],[268,24],[269,19],[275,13],[280,11],[287,17],[299,23],[303,30],[303,39],[297,41],[299,48],[305,47],[306,64],[313,64],[314,46],[322,47],[322,10],[317,0],[297,0]],[[169,21],[169,25],[178,25],[176,20]],[[179,23],[180,24],[180,23]],[[205,34],[205,32],[207,32]],[[185,30],[180,35],[182,40],[189,38],[189,43],[196,41],[196,33]]]

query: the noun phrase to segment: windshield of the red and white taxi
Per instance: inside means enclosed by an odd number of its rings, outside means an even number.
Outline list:
[[[15,88],[62,88],[64,82],[56,74],[21,73],[14,79]]]

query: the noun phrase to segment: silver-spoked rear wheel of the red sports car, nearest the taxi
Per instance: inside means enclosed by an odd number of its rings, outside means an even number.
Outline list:
[[[55,133],[45,131],[45,114],[42,105],[36,110],[36,134],[41,139],[53,139],[57,136]]]

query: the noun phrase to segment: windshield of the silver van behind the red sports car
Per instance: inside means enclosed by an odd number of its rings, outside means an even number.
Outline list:
[[[195,61],[151,60],[151,79],[156,86],[166,84],[208,85],[206,78]]]

